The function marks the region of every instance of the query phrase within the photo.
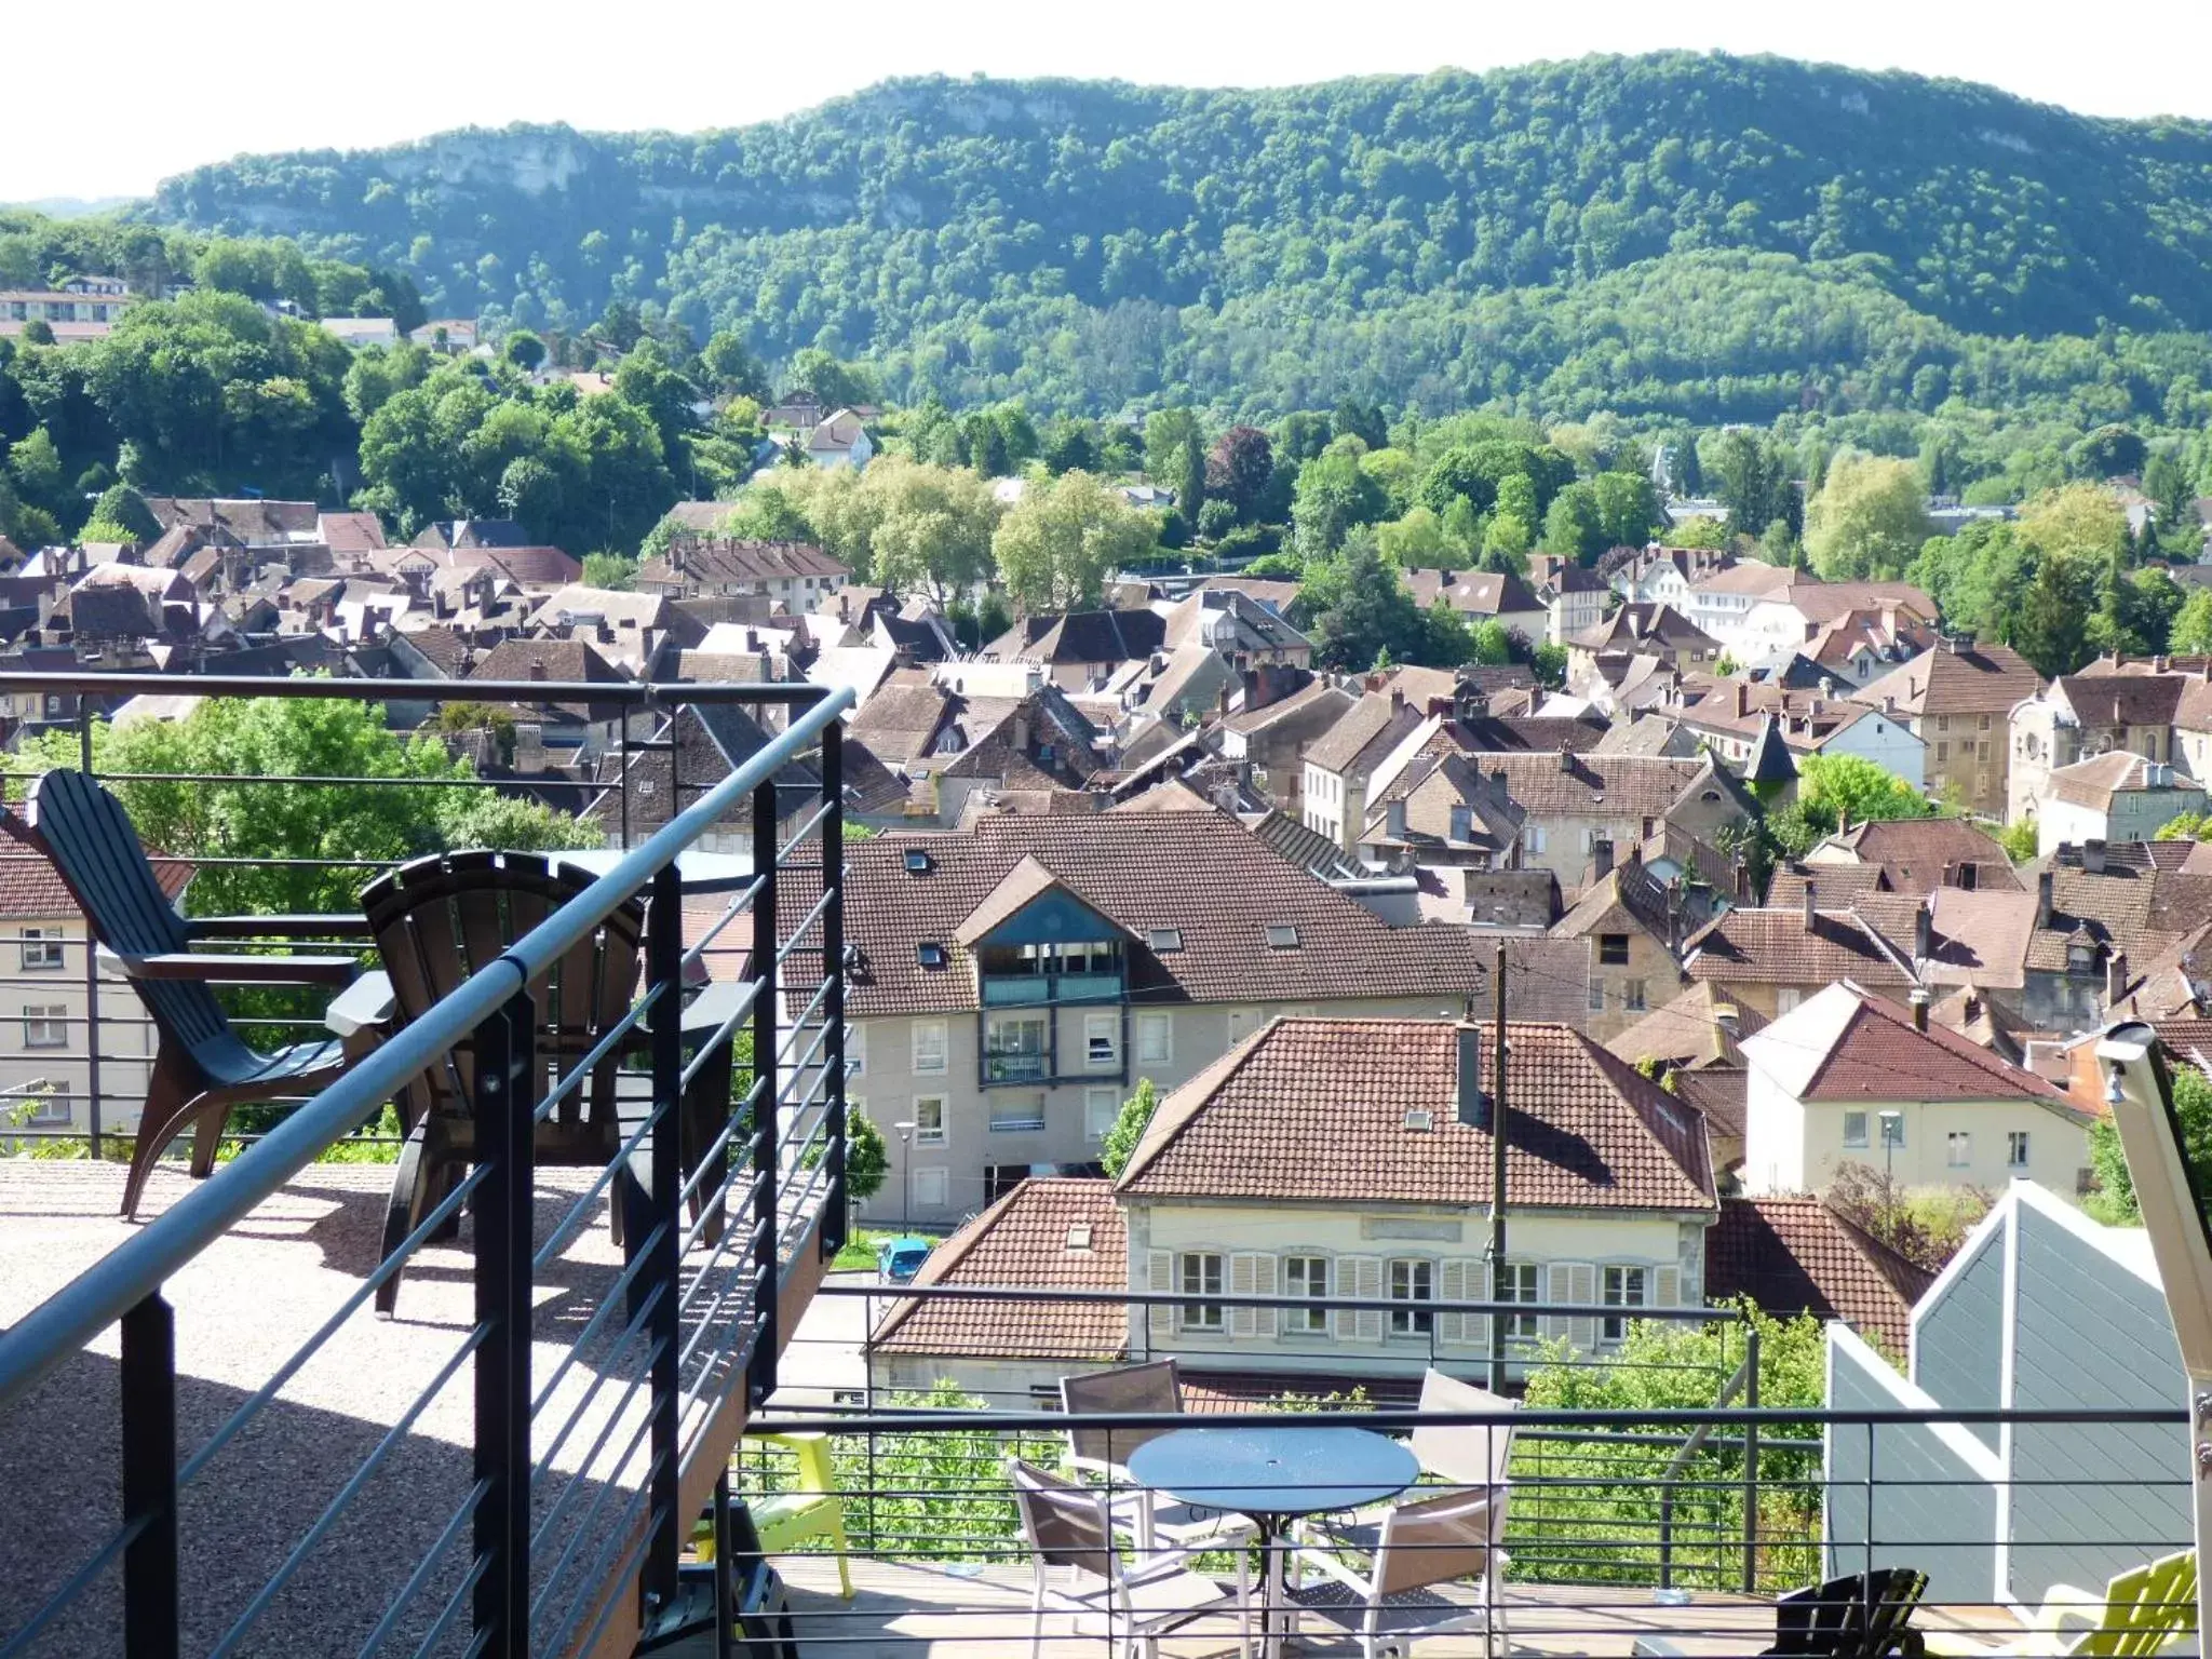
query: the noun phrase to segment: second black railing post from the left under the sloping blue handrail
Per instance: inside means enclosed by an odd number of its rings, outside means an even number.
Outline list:
[[[535,1188],[538,1009],[515,991],[484,1020],[476,1051],[476,1584],[478,1652],[531,1650],[531,1223]]]

